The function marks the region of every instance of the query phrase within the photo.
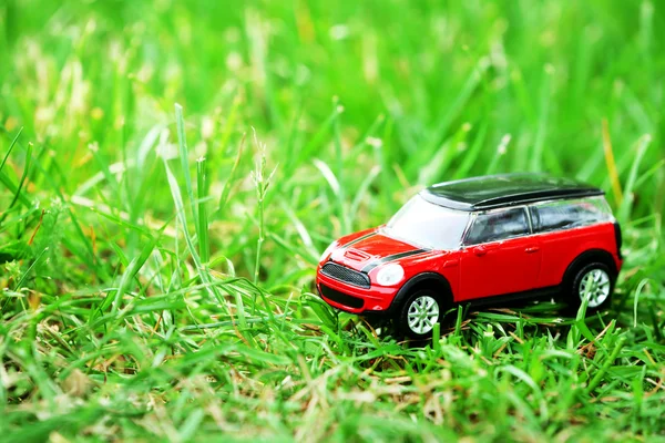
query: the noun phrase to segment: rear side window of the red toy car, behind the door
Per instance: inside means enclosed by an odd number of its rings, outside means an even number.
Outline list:
[[[535,233],[572,229],[614,219],[607,202],[602,196],[539,203],[532,205],[530,210]]]

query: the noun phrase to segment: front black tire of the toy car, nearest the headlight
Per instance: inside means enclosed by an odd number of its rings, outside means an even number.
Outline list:
[[[430,300],[436,303],[438,315],[436,319],[431,315],[432,307]],[[422,321],[418,321],[422,328],[418,326],[413,327],[413,321],[409,322],[409,319],[415,319],[415,310],[424,310],[426,315],[421,316]],[[443,297],[433,291],[432,289],[418,289],[410,293],[405,302],[400,306],[397,315],[393,319],[395,327],[399,336],[407,337],[415,340],[426,340],[432,337],[432,330],[434,323],[441,323],[441,320],[446,316],[448,310],[447,303],[443,301]]]

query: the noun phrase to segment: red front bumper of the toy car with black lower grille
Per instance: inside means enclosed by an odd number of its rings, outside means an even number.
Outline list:
[[[371,286],[360,288],[316,272],[316,288],[330,306],[351,313],[379,313],[387,311],[399,288]]]

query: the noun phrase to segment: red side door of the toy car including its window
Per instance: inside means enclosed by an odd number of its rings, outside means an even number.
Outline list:
[[[460,300],[534,289],[541,265],[525,207],[479,213],[464,239]]]

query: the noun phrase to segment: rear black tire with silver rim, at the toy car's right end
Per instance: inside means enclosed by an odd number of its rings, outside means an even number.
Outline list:
[[[582,306],[586,290],[590,297],[586,312],[595,312],[607,308],[612,302],[616,271],[605,262],[591,261],[576,266],[569,272],[564,282],[564,297],[571,313],[576,313]],[[589,288],[586,286],[589,285]]]

